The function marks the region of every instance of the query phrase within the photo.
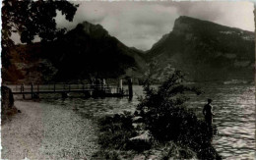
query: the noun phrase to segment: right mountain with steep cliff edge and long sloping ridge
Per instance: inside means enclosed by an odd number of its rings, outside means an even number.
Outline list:
[[[171,69],[189,80],[253,80],[254,32],[181,16],[147,52],[155,78]]]

